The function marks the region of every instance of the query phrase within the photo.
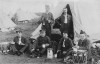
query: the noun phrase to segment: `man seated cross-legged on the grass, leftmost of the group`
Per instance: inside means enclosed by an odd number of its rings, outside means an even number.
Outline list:
[[[28,41],[22,36],[22,31],[17,31],[16,33],[18,36],[16,36],[13,40],[15,42],[13,51],[15,54],[20,56],[24,52],[28,51]]]

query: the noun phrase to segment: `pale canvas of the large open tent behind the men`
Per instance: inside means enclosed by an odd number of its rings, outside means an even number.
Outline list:
[[[69,4],[73,17],[75,37],[80,31],[85,31],[91,39],[100,39],[100,1],[99,0],[65,0],[51,10],[56,19],[63,8]]]

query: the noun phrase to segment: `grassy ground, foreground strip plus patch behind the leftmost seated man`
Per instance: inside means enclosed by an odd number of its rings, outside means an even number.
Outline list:
[[[21,28],[23,30],[23,36],[30,37],[31,33],[38,27],[36,23],[18,23],[16,30]],[[10,32],[0,32],[0,42],[12,41],[16,36],[16,30]],[[0,53],[0,64],[61,64],[57,59],[46,60],[45,58],[28,58],[26,55],[2,55]]]

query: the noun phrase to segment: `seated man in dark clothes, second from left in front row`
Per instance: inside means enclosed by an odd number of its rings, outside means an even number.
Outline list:
[[[35,49],[32,49],[33,53],[40,57],[46,53],[49,46],[50,38],[46,36],[45,30],[40,30],[40,36],[36,40]]]

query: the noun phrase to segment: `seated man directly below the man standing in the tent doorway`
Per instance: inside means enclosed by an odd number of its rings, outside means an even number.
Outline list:
[[[58,45],[58,51],[61,52],[61,54],[58,56],[61,56],[62,58],[65,57],[66,53],[69,49],[73,47],[72,40],[68,38],[68,35],[66,32],[63,33],[63,37],[61,38],[59,45]]]

